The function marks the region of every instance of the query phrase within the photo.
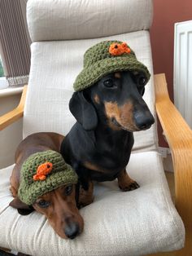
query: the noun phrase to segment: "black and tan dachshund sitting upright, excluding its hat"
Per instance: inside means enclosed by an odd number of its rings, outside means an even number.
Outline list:
[[[155,122],[142,99],[143,73],[111,73],[94,86],[75,92],[69,103],[76,124],[63,140],[61,153],[79,176],[80,204],[93,201],[93,181],[118,179],[122,191],[139,187],[125,167],[133,148],[133,131]]]

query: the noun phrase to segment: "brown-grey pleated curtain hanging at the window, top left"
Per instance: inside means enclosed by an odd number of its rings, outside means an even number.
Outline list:
[[[10,86],[28,83],[30,39],[26,3],[27,0],[0,0],[0,53]]]

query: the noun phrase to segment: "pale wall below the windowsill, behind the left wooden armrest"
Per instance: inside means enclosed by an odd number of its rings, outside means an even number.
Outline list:
[[[20,94],[0,97],[0,116],[15,108],[20,102]],[[0,168],[14,163],[15,149],[22,140],[23,120],[0,131]]]

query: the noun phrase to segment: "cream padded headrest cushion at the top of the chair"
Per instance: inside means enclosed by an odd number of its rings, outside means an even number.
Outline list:
[[[28,29],[33,42],[101,38],[149,29],[151,0],[30,0]]]

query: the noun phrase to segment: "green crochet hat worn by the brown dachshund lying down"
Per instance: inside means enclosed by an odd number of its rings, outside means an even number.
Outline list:
[[[25,204],[33,205],[38,196],[68,183],[77,183],[77,175],[62,155],[52,150],[37,152],[24,161],[20,170],[18,196]]]

